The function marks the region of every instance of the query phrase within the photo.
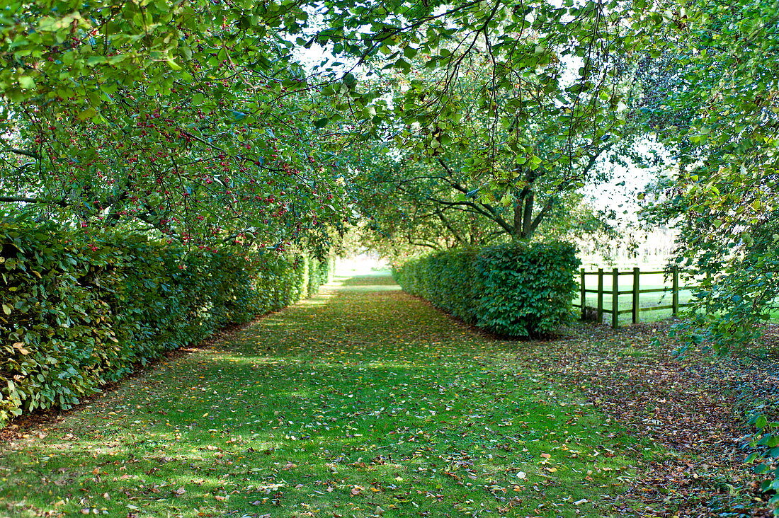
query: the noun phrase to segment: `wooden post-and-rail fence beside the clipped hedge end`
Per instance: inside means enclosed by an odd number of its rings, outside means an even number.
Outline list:
[[[670,278],[671,285],[659,288],[641,289],[641,275],[659,275],[664,274],[663,284],[667,284],[666,280]],[[674,269],[670,272],[665,271],[651,271],[642,272],[640,268],[633,268],[633,271],[620,272],[618,268],[615,268],[611,272],[605,272],[602,268],[599,268],[597,272],[585,272],[582,268],[580,271],[580,303],[574,303],[575,308],[581,309],[582,319],[586,319],[587,310],[595,312],[595,318],[597,322],[603,322],[603,315],[605,313],[612,315],[612,327],[619,326],[619,315],[630,313],[632,321],[635,324],[640,321],[640,314],[647,311],[657,311],[658,309],[670,309],[672,315],[679,313],[679,308],[689,305],[689,303],[679,303],[679,291],[689,290],[693,286],[680,286],[679,285],[679,270]],[[587,287],[587,277],[597,277],[597,289],[590,289]],[[604,289],[605,278],[611,278],[612,288],[611,290]],[[632,277],[632,285],[630,289],[619,289],[619,277]],[[647,305],[643,308],[640,305],[641,294],[647,293],[668,293],[671,294],[671,304],[668,305]],[[593,307],[587,305],[587,294],[597,294],[597,304]],[[609,295],[611,298],[611,308],[604,307],[604,295]],[[619,309],[619,296],[620,295],[632,295],[630,307],[626,309]]]

